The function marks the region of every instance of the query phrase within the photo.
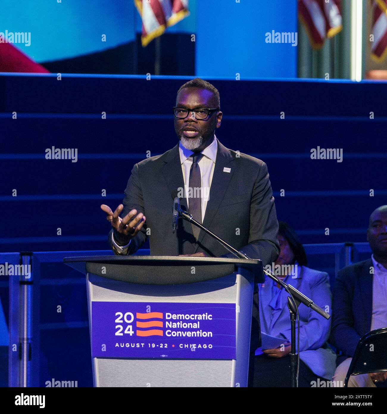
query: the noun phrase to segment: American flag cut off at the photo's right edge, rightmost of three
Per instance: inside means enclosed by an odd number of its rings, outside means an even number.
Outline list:
[[[387,55],[387,0],[371,0],[373,43],[371,57],[381,62]]]

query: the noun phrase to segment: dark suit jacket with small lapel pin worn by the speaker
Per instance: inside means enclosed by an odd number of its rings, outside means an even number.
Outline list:
[[[225,167],[231,171],[225,172]],[[184,188],[178,144],[162,155],[135,164],[127,182],[121,217],[135,208],[145,215],[146,222],[132,238],[127,254],[141,248],[148,237],[146,229],[149,229],[151,255],[205,252],[215,257],[234,257],[202,230],[196,242],[191,224],[181,218],[178,230],[172,233],[172,194],[177,188]],[[187,210],[185,199],[181,200],[181,207]],[[261,259],[263,265],[276,260],[278,222],[263,161],[237,154],[218,140],[203,226],[249,257]],[[113,248],[111,233],[109,243]]]

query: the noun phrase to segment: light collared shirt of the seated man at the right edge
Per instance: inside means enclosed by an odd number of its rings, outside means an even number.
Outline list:
[[[374,275],[372,282],[371,330],[387,327],[387,269],[371,256]]]

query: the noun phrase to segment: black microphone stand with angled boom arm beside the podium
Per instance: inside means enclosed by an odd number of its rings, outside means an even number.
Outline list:
[[[223,239],[216,236],[216,234],[212,233],[212,231],[209,231],[206,227],[204,227],[202,224],[200,224],[198,221],[196,221],[192,215],[184,210],[182,210],[179,206],[178,212],[180,217],[183,217],[184,220],[194,224],[195,226],[199,227],[199,229],[203,230],[207,234],[209,234],[211,237],[213,237],[216,241],[218,241],[222,246],[224,246],[230,253],[233,253],[236,257],[240,259],[251,259],[243,253],[241,250],[236,250],[233,248],[233,246],[230,246],[228,243],[226,243]],[[296,352],[296,315],[298,317],[298,325],[300,323],[300,318],[298,315],[298,306],[300,303],[303,303],[305,306],[308,306],[309,308],[313,309],[315,312],[317,312],[319,315],[324,317],[325,319],[329,319],[331,315],[329,313],[325,312],[320,306],[317,306],[311,299],[309,299],[307,296],[303,295],[299,290],[297,290],[295,287],[293,287],[290,284],[286,284],[281,279],[276,277],[274,273],[271,271],[265,269],[262,266],[262,270],[264,274],[266,274],[270,279],[274,280],[274,282],[281,285],[290,295],[288,297],[288,308],[290,313],[290,323],[291,323],[291,351],[290,351],[290,375],[291,375],[291,387],[297,387],[298,386],[298,362],[299,362],[299,353]],[[298,344],[300,340],[300,332],[298,332]],[[299,348],[299,346],[298,346]]]

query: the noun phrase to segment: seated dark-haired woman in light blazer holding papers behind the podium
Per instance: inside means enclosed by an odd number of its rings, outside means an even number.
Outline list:
[[[325,272],[306,267],[305,250],[294,230],[279,221],[278,241],[281,248],[275,262],[275,274],[285,283],[308,296],[326,312],[331,312],[332,295],[329,276]],[[289,274],[278,265],[292,265]],[[273,337],[284,338],[283,346],[276,349],[258,348],[255,352],[255,387],[290,387],[290,315],[287,306],[289,294],[269,277],[259,285],[261,331]],[[318,386],[322,380],[332,380],[336,366],[336,354],[327,346],[331,320],[326,320],[314,310],[300,304],[300,370],[299,387]],[[297,322],[296,322],[297,329]],[[296,340],[297,340],[296,331]],[[264,342],[263,342],[264,344]],[[296,344],[297,346],[297,344]],[[296,348],[297,349],[297,348]],[[316,381],[316,383],[313,383]],[[321,385],[320,385],[321,386]]]

